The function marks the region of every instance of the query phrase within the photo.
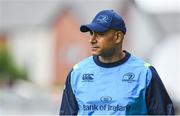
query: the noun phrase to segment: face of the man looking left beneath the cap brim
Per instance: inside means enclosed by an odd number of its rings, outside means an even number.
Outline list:
[[[89,40],[91,43],[92,55],[111,57],[115,54],[117,44],[115,44],[115,30],[106,32],[90,32],[92,38]]]

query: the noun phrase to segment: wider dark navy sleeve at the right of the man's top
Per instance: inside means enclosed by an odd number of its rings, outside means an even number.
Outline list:
[[[174,115],[173,103],[155,68],[150,66],[152,78],[146,90],[149,115]]]

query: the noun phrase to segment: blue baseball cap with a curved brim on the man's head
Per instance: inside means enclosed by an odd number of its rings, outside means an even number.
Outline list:
[[[80,27],[81,32],[105,32],[109,29],[121,31],[126,34],[124,20],[113,10],[100,11],[90,24],[81,25]]]

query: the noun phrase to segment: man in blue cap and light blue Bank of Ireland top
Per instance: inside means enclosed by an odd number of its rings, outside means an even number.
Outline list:
[[[67,76],[60,115],[174,114],[156,70],[123,50],[126,26],[113,10],[103,10],[81,32],[90,32],[92,56]]]

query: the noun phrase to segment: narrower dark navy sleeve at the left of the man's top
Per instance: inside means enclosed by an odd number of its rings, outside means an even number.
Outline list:
[[[72,91],[71,72],[66,79],[59,115],[77,115],[79,110],[75,95]]]

